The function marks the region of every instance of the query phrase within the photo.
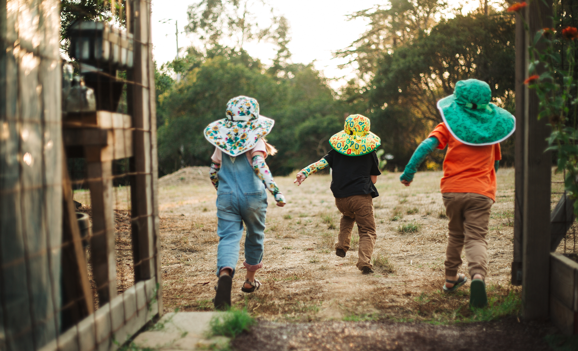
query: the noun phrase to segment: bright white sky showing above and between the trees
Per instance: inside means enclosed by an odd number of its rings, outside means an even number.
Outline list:
[[[195,0],[153,0],[153,54],[157,64],[171,61],[176,55],[175,20],[179,25],[179,47],[191,44],[192,36],[184,33],[187,24],[187,8]],[[332,81],[333,88],[346,83],[353,77],[353,69],[338,69],[343,59],[332,58],[332,52],[349,46],[365,31],[366,21],[362,19],[347,21],[347,14],[368,9],[376,3],[386,1],[376,0],[270,0],[277,14],[283,14],[290,22],[291,42],[289,50],[291,61],[309,64],[315,61],[315,68],[322,71],[325,77],[345,79]],[[493,2],[493,1],[492,1]],[[457,0],[450,0],[457,4]],[[478,0],[459,1],[464,3],[462,13],[479,6]],[[162,23],[171,19],[168,23]],[[252,42],[244,45],[245,50],[253,57],[260,58],[264,64],[269,64],[275,57],[272,44]],[[181,54],[183,51],[181,51]]]

